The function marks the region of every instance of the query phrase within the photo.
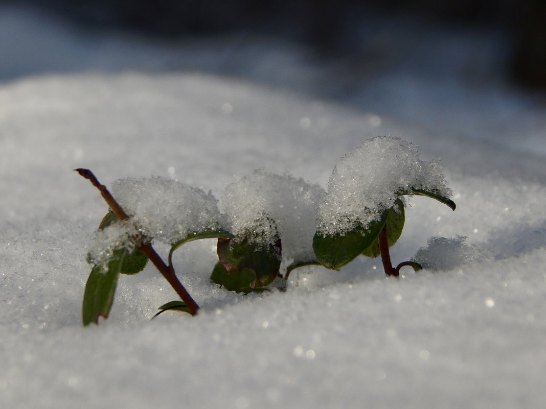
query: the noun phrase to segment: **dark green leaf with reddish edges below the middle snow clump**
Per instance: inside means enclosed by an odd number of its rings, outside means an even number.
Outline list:
[[[273,244],[263,246],[248,237],[239,242],[230,238],[219,238],[217,252],[219,261],[228,274],[242,274],[245,270],[254,272],[254,280],[250,288],[260,288],[271,284],[281,267],[280,239]]]

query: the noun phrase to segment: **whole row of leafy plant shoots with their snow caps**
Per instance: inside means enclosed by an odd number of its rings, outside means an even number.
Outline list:
[[[118,275],[139,273],[148,260],[181,298],[159,307],[160,313],[197,314],[199,306],[172,262],[173,251],[191,240],[218,239],[211,280],[238,292],[263,291],[277,277],[286,280],[293,269],[309,264],[339,269],[358,255],[381,255],[385,274],[398,276],[402,266],[421,268],[416,261],[396,268],[390,262],[389,247],[404,225],[401,196],[429,196],[455,209],[438,161],[420,160],[415,145],[393,136],[374,137],[345,155],[328,192],[303,179],[257,170],[225,188],[222,212],[210,192],[171,179],[120,179],[112,196],[91,171],[77,171],[110,207],[88,247],[93,268],[84,325],[108,317]],[[171,246],[167,262],[153,249],[154,239]]]

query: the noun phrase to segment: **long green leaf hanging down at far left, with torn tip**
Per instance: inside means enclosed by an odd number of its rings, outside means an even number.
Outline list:
[[[108,271],[103,267],[94,266],[85,285],[84,301],[82,303],[82,322],[84,326],[94,322],[98,324],[100,316],[108,318],[114,293],[116,291],[117,278],[126,258],[125,249],[116,250],[108,263]]]

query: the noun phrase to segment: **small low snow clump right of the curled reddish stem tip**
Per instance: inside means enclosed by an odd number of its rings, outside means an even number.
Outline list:
[[[432,237],[426,248],[420,248],[412,261],[429,270],[449,270],[474,261],[488,260],[484,249],[465,244],[466,237]]]

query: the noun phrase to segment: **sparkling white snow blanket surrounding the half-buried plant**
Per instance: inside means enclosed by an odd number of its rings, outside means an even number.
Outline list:
[[[44,33],[56,31],[39,22]],[[262,47],[261,61],[269,56],[276,65],[268,67],[280,70],[276,79],[293,69],[314,82],[314,71],[290,59],[280,68],[272,57],[278,49]],[[410,120],[395,107],[390,116],[371,113],[360,103],[327,103],[227,76],[34,74],[0,86],[0,407],[546,404],[546,116],[534,98],[494,83],[484,95],[463,85],[466,96],[452,101],[451,116],[418,99],[412,112],[434,117],[431,130],[423,117]],[[394,98],[381,87],[389,76],[398,78],[392,84],[400,95],[414,91],[395,74],[363,82],[385,92],[378,109]],[[492,121],[499,112],[492,94],[501,95],[509,126]],[[481,103],[466,104],[471,97]],[[476,126],[462,132],[457,113],[465,109]],[[196,240],[173,261],[201,306],[197,316],[165,312],[150,321],[176,296],[149,265],[120,278],[107,321],[81,326],[85,249],[106,205],[73,169],[93,170],[108,187],[122,177],[169,177],[216,197],[256,169],[325,187],[339,158],[389,134],[418,145],[422,160],[442,157],[458,206],[452,212],[413,197],[393,262],[444,237],[429,251],[436,260],[440,251],[462,252],[462,263],[386,279],[380,262],[361,257],[339,272],[294,270],[284,293],[244,296],[211,284],[215,240]],[[487,257],[470,260],[465,246]],[[166,256],[169,246],[157,250]]]

